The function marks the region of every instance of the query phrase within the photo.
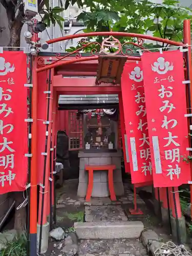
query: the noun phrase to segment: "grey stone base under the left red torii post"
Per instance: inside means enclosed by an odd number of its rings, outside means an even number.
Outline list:
[[[37,252],[39,251],[39,233],[40,225],[37,224]],[[40,253],[46,253],[49,244],[49,222],[42,225],[42,238],[41,238],[41,250]]]

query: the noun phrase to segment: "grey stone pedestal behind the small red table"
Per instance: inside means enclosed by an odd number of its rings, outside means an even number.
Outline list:
[[[88,188],[88,171],[84,169],[85,165],[104,165],[115,164],[116,169],[113,172],[114,189],[116,196],[124,194],[124,188],[121,175],[121,150],[117,152],[83,152],[79,154],[79,185],[77,195],[86,197]],[[108,171],[95,170],[93,174],[93,191],[92,197],[108,197]]]

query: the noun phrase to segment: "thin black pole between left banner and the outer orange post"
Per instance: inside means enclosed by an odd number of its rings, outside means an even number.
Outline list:
[[[30,55],[30,77],[29,83],[32,83],[32,63],[33,63],[33,56]],[[28,118],[32,118],[32,87],[29,87],[29,116]],[[32,123],[29,122],[28,134],[31,134]],[[28,138],[28,154],[31,154],[31,139]],[[28,157],[28,184],[31,183],[31,157]],[[30,254],[30,187],[27,189],[28,193],[28,205],[27,205],[27,256]]]

